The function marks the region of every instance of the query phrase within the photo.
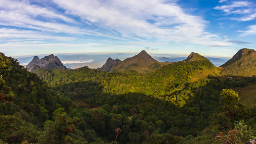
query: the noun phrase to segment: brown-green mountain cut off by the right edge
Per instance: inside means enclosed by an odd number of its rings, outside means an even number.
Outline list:
[[[256,74],[256,51],[254,49],[240,49],[232,59],[221,65],[222,75],[253,76]]]

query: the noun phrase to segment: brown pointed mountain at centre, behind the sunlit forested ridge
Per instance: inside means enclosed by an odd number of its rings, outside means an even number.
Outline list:
[[[148,55],[145,50],[142,50],[134,57],[125,59],[120,63],[116,63],[110,72],[123,72],[129,70],[141,73],[154,72],[159,67],[169,63],[170,62],[159,62]]]

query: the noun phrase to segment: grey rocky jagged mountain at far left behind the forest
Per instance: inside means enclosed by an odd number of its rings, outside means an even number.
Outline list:
[[[33,58],[31,62],[26,66],[29,72],[34,72],[38,69],[46,68],[51,70],[65,70],[67,69],[62,63],[61,60],[54,55],[45,56],[42,59],[39,59],[37,56]]]

